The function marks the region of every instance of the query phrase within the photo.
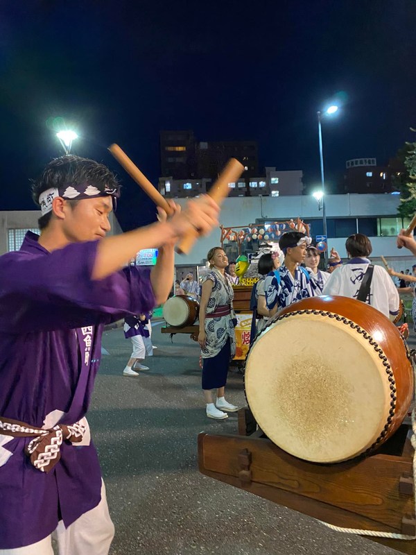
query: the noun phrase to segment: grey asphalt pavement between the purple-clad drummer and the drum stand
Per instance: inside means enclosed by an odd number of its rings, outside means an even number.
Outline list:
[[[306,517],[198,472],[201,431],[236,434],[237,416],[210,420],[200,386],[198,345],[153,327],[150,371],[123,377],[130,341],[103,336],[89,411],[116,536],[112,555],[393,555],[370,540]],[[245,405],[243,376],[229,373],[226,398]]]

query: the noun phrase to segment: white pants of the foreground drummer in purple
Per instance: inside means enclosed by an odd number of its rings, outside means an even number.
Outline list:
[[[101,484],[101,502],[84,513],[68,528],[62,520],[51,536],[40,542],[0,549],[0,555],[53,555],[51,538],[57,540],[59,555],[107,555],[114,537],[114,524],[108,513],[104,482]]]

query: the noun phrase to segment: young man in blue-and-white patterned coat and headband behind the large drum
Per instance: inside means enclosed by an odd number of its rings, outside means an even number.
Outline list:
[[[295,300],[313,297],[309,272],[300,266],[310,244],[311,237],[299,231],[289,231],[279,239],[279,247],[284,253],[284,263],[279,269],[268,273],[264,280],[266,305],[270,316],[291,305]]]

